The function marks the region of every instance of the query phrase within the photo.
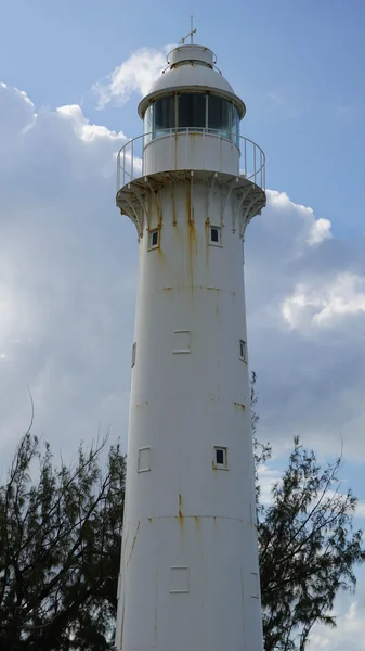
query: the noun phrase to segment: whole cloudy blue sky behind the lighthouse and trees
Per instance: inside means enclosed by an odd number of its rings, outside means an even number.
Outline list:
[[[30,418],[69,458],[110,430],[126,447],[138,243],[115,207],[116,152],[190,29],[247,105],[268,207],[246,238],[250,368],[269,484],[292,436],[365,524],[365,4],[355,0],[0,0],[0,471]],[[310,651],[365,650],[365,572]]]

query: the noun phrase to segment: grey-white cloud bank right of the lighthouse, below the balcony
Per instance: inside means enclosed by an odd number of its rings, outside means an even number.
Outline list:
[[[324,237],[310,207],[269,192],[246,241],[250,366],[258,373],[260,435],[321,455],[365,457],[364,242]],[[318,225],[320,222],[320,225]]]

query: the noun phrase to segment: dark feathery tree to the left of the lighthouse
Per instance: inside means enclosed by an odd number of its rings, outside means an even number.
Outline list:
[[[0,487],[1,651],[112,648],[125,457],[103,465],[105,444],[54,468],[30,430],[19,442]]]

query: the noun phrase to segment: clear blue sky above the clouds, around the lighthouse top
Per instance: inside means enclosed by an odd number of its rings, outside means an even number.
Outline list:
[[[83,103],[97,119],[90,88],[140,47],[175,42],[193,11],[198,39],[247,102],[244,129],[264,143],[268,183],[336,219],[356,237],[364,144],[362,61],[365,5],[344,0],[174,3],[142,0],[1,2],[0,56],[9,84],[31,88],[37,106]],[[170,40],[169,40],[170,39]],[[47,55],[44,53],[47,52]],[[133,120],[134,105],[108,125]],[[304,180],[305,179],[305,180]],[[338,195],[339,183],[343,188]],[[361,228],[361,226],[360,226]]]

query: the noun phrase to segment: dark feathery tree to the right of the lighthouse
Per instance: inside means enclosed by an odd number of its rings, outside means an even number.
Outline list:
[[[259,420],[251,376],[252,433],[257,468],[271,457],[256,438]],[[356,498],[341,494],[341,456],[324,469],[298,437],[272,503],[260,503],[258,536],[265,651],[303,651],[315,623],[336,626],[330,613],[341,590],[353,591],[354,567],[365,561],[362,532],[353,531]]]

